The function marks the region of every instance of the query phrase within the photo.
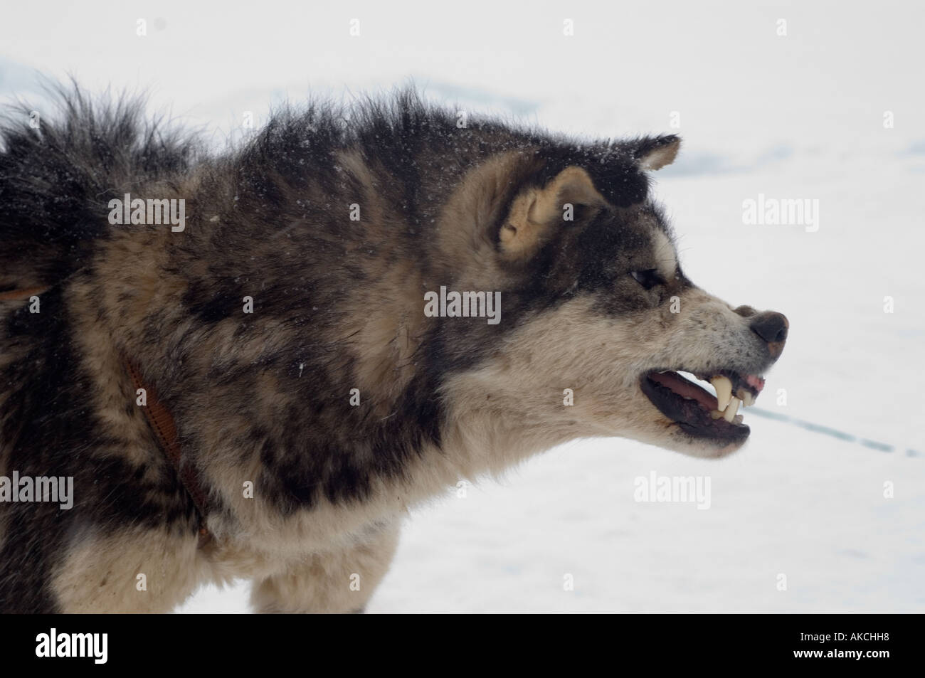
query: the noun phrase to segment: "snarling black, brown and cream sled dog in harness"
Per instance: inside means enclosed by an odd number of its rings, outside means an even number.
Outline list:
[[[363,610],[408,507],[461,478],[578,437],[746,441],[787,321],[685,277],[648,195],[675,136],[406,91],[210,154],[62,100],[2,132],[0,610],[171,610],[237,577],[257,610]]]

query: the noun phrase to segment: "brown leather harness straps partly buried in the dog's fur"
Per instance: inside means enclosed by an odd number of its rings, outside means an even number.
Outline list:
[[[29,299],[33,295],[41,294],[50,290],[49,286],[27,288],[24,290],[7,290],[0,292],[0,302],[15,302]],[[177,424],[174,418],[167,411],[161,401],[157,400],[157,394],[154,388],[145,386],[142,381],[142,373],[138,367],[128,358],[123,357],[122,363],[125,364],[126,372],[129,373],[135,389],[144,388],[147,405],[142,407],[144,418],[148,420],[151,429],[154,431],[154,437],[160,445],[161,451],[177,472],[180,483],[190,495],[192,503],[196,506],[196,519],[199,524],[199,546],[205,546],[211,541],[212,536],[205,527],[205,516],[208,515],[208,495],[203,491],[203,485],[200,482],[199,474],[194,464],[183,463],[183,451],[179,446],[179,437],[177,435]]]

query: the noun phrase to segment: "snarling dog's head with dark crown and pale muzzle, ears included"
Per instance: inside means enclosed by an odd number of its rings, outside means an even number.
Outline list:
[[[442,247],[470,253],[450,255],[467,262],[456,289],[499,290],[501,315],[497,327],[441,326],[462,367],[446,386],[457,412],[485,414],[508,433],[499,440],[621,436],[705,457],[745,443],[740,407],[758,398],[787,320],[685,277],[648,198],[648,172],[679,146],[674,136],[555,146],[468,179]]]

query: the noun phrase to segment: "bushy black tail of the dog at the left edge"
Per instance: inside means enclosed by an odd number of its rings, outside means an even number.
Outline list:
[[[184,170],[196,150],[146,124],[141,99],[93,103],[76,86],[53,98],[53,113],[19,105],[0,120],[0,294],[68,277],[105,238],[109,200]]]

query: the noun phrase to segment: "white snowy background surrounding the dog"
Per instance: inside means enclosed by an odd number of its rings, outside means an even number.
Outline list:
[[[752,439],[722,462],[581,440],[448,491],[408,519],[369,611],[923,611],[923,28],[911,1],[7,3],[0,94],[41,101],[38,73],[145,91],[216,147],[245,111],[411,78],[549,129],[681,134],[655,191],[687,274],[790,319],[758,402],[778,418],[746,410]],[[759,193],[818,200],[819,230],[747,226]],[[636,502],[653,471],[709,475],[709,510]],[[208,586],[181,610],[247,595]]]

